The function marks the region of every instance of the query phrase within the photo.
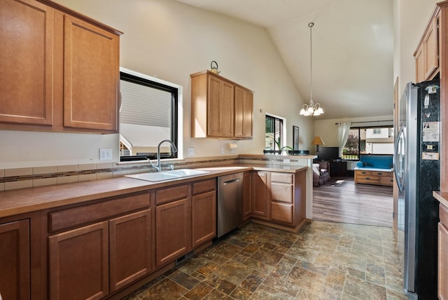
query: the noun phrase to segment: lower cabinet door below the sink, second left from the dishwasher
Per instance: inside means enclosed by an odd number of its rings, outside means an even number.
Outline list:
[[[188,199],[156,207],[155,261],[157,267],[174,261],[188,251],[188,233],[190,232],[188,212]]]

